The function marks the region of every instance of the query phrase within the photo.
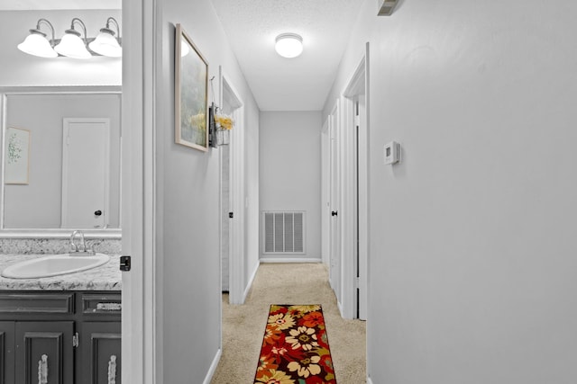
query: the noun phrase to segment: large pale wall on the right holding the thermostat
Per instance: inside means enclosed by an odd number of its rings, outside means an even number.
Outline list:
[[[372,382],[575,382],[577,4],[376,7],[324,112],[369,41]]]

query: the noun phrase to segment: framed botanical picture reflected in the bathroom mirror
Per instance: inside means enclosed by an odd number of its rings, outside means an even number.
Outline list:
[[[5,183],[27,184],[30,161],[30,130],[8,127],[5,140]]]

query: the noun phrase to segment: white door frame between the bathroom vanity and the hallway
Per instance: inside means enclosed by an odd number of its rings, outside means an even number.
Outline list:
[[[158,25],[155,0],[123,0],[122,166],[124,255],[133,258],[123,272],[122,381],[162,381],[161,326],[157,325],[155,211],[155,105]],[[160,272],[158,272],[160,273]],[[157,345],[158,344],[158,345]]]

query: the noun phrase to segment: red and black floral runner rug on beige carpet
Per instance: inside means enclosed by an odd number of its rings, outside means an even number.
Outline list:
[[[320,305],[271,305],[255,384],[336,384]]]

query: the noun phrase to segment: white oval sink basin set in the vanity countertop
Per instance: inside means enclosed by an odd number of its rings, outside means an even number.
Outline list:
[[[12,264],[2,271],[2,276],[11,279],[37,279],[57,276],[87,271],[107,263],[108,260],[110,260],[110,256],[104,254],[90,256],[50,255]]]

